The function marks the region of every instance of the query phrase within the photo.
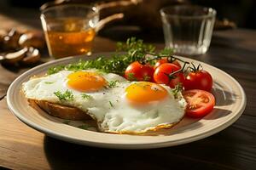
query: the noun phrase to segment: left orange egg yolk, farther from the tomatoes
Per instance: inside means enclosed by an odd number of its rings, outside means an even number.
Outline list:
[[[94,92],[104,86],[107,81],[95,72],[77,71],[67,76],[67,85],[81,92]]]

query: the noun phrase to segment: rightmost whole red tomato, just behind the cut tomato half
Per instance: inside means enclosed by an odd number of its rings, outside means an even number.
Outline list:
[[[185,90],[201,89],[210,92],[212,89],[212,76],[204,70],[189,72],[184,88]]]

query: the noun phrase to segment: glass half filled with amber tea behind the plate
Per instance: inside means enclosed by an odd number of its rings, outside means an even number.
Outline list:
[[[82,4],[62,4],[42,11],[41,21],[49,50],[55,59],[91,54],[99,21],[97,8]]]

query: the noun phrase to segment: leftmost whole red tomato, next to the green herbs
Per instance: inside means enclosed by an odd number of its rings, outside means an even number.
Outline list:
[[[151,65],[143,65],[135,61],[125,70],[125,78],[130,81],[153,82],[154,68]]]

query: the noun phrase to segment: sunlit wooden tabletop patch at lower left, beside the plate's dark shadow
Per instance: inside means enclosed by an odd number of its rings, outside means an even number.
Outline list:
[[[0,165],[15,169],[48,169],[44,134],[16,119],[6,99],[0,101],[0,108]]]

